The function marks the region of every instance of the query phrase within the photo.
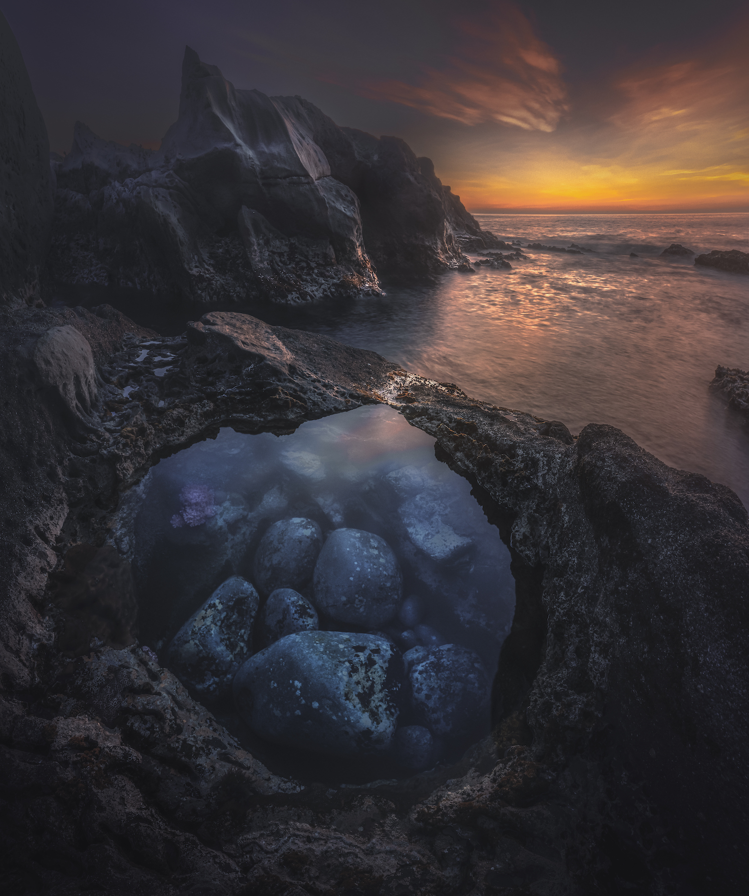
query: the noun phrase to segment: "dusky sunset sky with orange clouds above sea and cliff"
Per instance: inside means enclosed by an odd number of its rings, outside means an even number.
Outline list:
[[[158,147],[185,44],[402,137],[469,211],[749,211],[745,0],[0,0],[53,150]]]

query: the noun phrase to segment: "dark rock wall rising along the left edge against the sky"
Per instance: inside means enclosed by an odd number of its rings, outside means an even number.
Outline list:
[[[54,211],[44,118],[0,13],[0,306],[42,303]]]

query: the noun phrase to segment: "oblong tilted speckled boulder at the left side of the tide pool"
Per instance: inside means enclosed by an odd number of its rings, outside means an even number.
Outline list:
[[[172,638],[169,668],[198,699],[215,700],[228,694],[237,669],[252,653],[259,600],[249,582],[234,576]]]

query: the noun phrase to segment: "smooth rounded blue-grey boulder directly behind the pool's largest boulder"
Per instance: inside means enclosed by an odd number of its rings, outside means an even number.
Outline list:
[[[314,603],[325,616],[374,628],[400,604],[403,578],[392,548],[379,535],[336,529],[314,567]]]

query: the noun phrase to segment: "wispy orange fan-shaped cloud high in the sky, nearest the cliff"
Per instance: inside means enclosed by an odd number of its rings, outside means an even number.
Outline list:
[[[357,92],[464,125],[494,121],[554,131],[568,108],[560,66],[520,10],[501,3],[480,21],[461,18],[455,28],[458,45],[442,68],[422,67],[415,84],[367,80]]]

